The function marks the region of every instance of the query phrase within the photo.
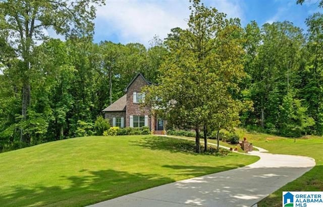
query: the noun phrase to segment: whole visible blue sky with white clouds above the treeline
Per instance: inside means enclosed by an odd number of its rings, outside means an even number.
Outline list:
[[[243,26],[255,20],[260,26],[275,21],[291,21],[306,31],[305,19],[318,8],[317,0],[306,0],[296,5],[296,0],[202,0],[216,7],[228,17],[238,17]],[[163,39],[171,28],[186,28],[189,16],[188,0],[108,0],[97,10],[94,42],[110,40],[139,42],[146,46],[154,35]]]

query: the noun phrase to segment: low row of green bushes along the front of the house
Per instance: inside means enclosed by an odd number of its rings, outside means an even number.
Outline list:
[[[119,127],[110,127],[108,130],[103,131],[103,136],[116,136],[116,135],[141,135],[141,134],[150,134],[149,127],[143,126],[142,128],[119,128]]]

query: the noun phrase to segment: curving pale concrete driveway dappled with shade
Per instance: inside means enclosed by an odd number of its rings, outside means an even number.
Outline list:
[[[260,160],[233,170],[131,193],[92,206],[252,206],[310,170],[312,158],[252,152]]]

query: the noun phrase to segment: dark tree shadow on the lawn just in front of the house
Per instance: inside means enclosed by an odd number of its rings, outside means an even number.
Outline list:
[[[149,136],[138,141],[130,141],[134,146],[150,150],[168,151],[171,153],[185,153],[199,155],[195,153],[195,143],[188,140],[174,139],[170,137]],[[201,151],[203,146],[201,146]]]

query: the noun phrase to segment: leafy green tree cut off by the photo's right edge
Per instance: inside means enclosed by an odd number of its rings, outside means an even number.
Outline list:
[[[312,133],[323,133],[323,15],[315,13],[306,20],[308,42],[303,52],[302,65],[298,72],[299,96],[308,106],[309,116],[315,120]]]

